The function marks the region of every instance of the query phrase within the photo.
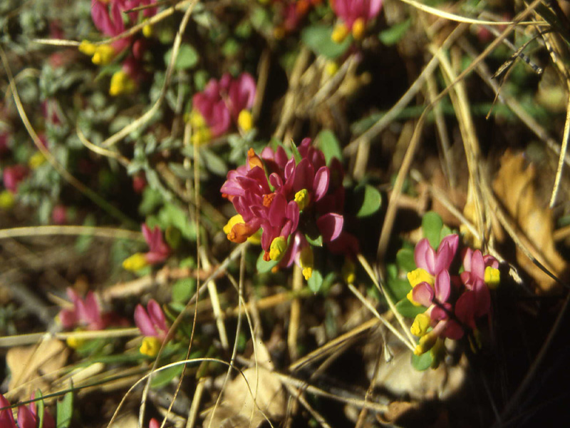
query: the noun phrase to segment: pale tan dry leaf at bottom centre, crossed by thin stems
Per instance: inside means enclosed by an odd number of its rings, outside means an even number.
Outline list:
[[[279,377],[263,367],[250,367],[243,373],[244,376],[240,374],[228,382],[222,405],[207,417],[204,427],[256,428],[265,416],[284,417],[286,399]]]

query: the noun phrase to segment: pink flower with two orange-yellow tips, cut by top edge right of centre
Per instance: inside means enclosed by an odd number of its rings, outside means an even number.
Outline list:
[[[331,8],[339,19],[331,39],[341,43],[352,33],[355,40],[361,40],[368,21],[378,16],[382,4],[383,0],[331,0]]]

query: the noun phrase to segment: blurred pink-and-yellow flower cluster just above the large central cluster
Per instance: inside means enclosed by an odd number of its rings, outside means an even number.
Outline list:
[[[217,81],[212,78],[204,91],[192,97],[192,143],[207,143],[226,133],[237,123],[247,132],[253,126],[251,109],[256,93],[255,80],[249,73],[232,78],[228,73]]]

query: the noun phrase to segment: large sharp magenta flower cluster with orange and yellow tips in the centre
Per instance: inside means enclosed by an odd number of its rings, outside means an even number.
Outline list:
[[[276,151],[266,147],[260,157],[250,148],[246,165],[229,171],[221,191],[238,213],[226,229],[227,238],[243,243],[261,228],[264,260],[281,266],[299,263],[309,279],[314,257],[307,235],[321,235],[336,252],[356,253],[358,244],[343,232],[341,164],[333,159],[326,166],[310,138],[297,154],[289,158],[281,146]]]

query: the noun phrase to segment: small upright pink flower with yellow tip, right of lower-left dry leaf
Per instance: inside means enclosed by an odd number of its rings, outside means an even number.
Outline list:
[[[137,305],[135,308],[135,324],[145,336],[142,339],[142,345],[140,345],[140,353],[155,357],[168,334],[165,314],[156,300],[150,300],[146,310],[142,305]]]

